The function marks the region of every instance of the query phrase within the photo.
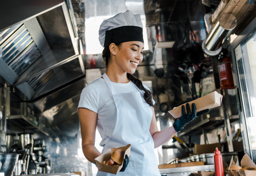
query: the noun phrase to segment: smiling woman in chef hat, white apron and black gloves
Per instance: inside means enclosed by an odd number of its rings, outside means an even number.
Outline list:
[[[95,146],[96,126],[101,134],[102,153],[108,149],[131,144],[130,158],[126,156],[123,168],[117,175],[160,176],[154,148],[161,146],[180,132],[197,116],[195,104],[182,106],[182,116],[172,127],[158,131],[155,119],[155,101],[148,87],[135,78],[138,64],[143,59],[143,35],[140,15],[129,10],[102,22],[99,40],[104,46],[102,57],[106,73],[88,84],[81,93],[78,106],[85,157],[94,163],[101,155]],[[129,162],[130,159],[130,162]],[[99,172],[97,176],[112,174]]]

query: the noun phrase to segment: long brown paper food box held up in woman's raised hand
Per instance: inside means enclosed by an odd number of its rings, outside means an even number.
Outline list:
[[[189,106],[190,106],[190,109],[192,110],[192,104],[195,103],[195,106],[197,107],[197,112],[200,112],[205,109],[211,109],[213,107],[221,106],[221,101],[222,101],[222,95],[214,91],[214,92],[211,92],[210,94],[204,95],[203,97],[197,98],[196,100],[190,101]],[[185,106],[185,112],[187,114],[186,103],[183,105]],[[181,106],[182,104],[168,112],[175,119],[177,119],[181,116]]]

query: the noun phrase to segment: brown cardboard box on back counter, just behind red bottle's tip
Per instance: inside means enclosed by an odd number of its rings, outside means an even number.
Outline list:
[[[216,147],[221,150],[221,143],[213,143],[213,144],[195,144],[195,154],[212,154],[216,151]]]

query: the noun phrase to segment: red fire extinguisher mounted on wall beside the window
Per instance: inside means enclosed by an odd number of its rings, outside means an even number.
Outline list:
[[[225,54],[219,56],[219,79],[221,81],[221,89],[234,88],[233,74],[230,63],[230,57]]]

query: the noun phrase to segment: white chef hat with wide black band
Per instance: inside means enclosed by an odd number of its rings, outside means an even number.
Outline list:
[[[140,41],[144,43],[140,14],[134,15],[130,10],[106,19],[99,27],[99,42],[103,47],[111,43]]]

